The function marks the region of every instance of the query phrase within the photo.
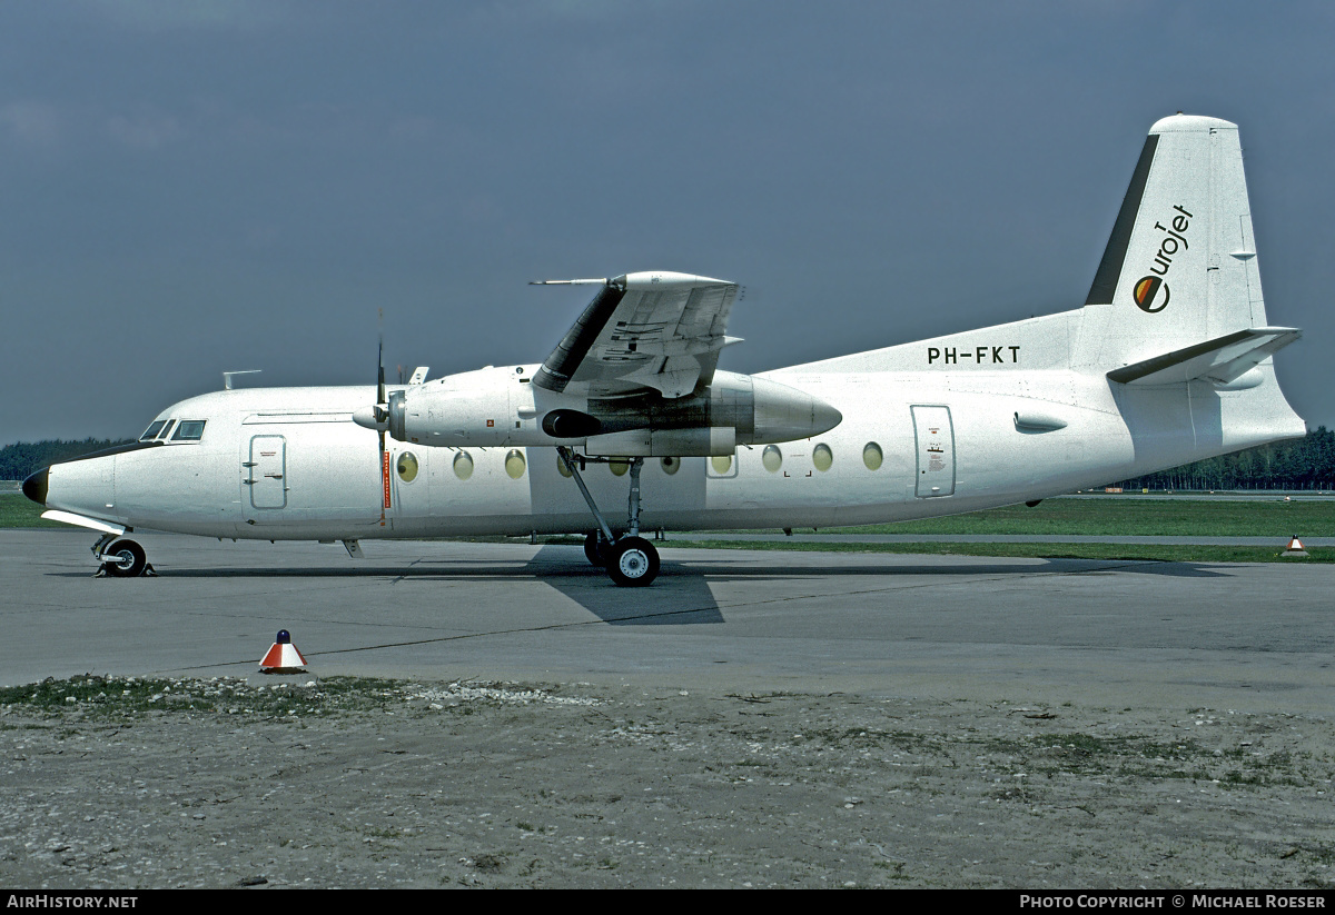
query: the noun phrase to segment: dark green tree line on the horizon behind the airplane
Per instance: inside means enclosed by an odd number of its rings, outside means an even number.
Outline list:
[[[0,480],[21,480],[59,460],[131,441],[134,439],[16,441],[0,448]],[[1335,433],[1322,425],[1302,439],[1263,444],[1111,486],[1125,490],[1335,490]]]

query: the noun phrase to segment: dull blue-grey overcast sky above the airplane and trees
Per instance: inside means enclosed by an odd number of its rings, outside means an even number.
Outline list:
[[[736,280],[722,368],[1079,307],[1149,125],[1242,128],[1276,359],[1335,425],[1335,5],[0,4],[0,444],[222,387],[541,361]]]

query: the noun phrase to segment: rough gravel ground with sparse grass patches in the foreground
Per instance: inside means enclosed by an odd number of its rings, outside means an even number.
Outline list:
[[[1328,719],[607,686],[0,691],[11,887],[1335,886]]]

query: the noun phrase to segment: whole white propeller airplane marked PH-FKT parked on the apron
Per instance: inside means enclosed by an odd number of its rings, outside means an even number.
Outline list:
[[[641,532],[1036,503],[1306,433],[1271,360],[1300,332],[1267,323],[1238,128],[1212,117],[1151,128],[1073,311],[746,376],[716,368],[736,284],[566,283],[597,293],[542,364],[206,393],[23,491],[100,532],[115,576],[144,571],[117,539],[135,530],[354,558],[367,538],[579,532],[613,582],[643,586]],[[623,519],[605,514],[621,499]]]

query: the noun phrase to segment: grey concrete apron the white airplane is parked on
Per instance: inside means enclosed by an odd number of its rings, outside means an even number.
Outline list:
[[[218,543],[146,534],[159,578],[93,579],[95,535],[0,531],[0,684],[248,675],[279,628],[316,676],[741,695],[1208,707],[1327,718],[1335,566],[669,547],[649,588],[579,547]]]

